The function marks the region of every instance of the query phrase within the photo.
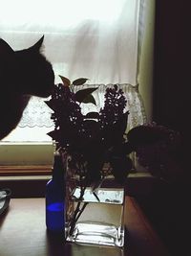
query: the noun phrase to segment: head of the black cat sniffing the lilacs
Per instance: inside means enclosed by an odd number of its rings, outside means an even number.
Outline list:
[[[5,60],[12,90],[38,97],[51,95],[54,84],[53,67],[41,54],[43,40],[44,36],[28,49],[13,51],[7,42],[0,39],[0,55]]]

